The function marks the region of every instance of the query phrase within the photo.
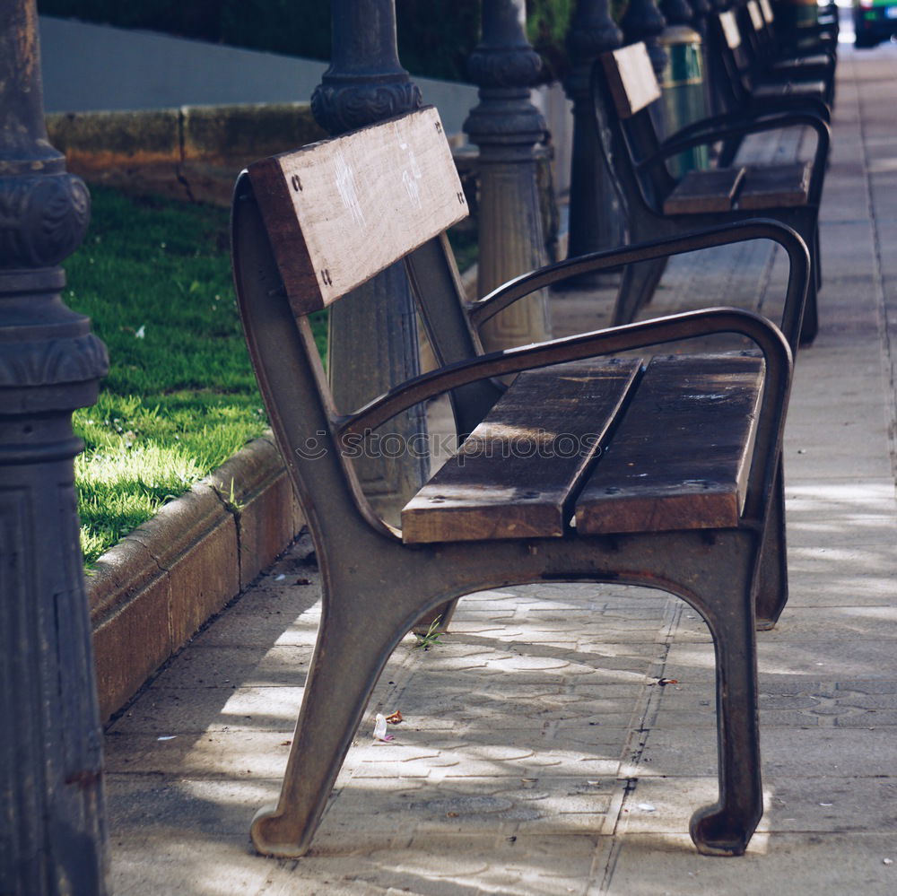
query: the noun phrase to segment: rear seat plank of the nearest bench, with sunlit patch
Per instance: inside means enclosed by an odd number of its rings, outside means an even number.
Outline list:
[[[530,370],[402,510],[407,543],[557,537],[639,360]]]

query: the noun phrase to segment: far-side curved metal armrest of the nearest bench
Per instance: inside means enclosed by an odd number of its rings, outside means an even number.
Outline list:
[[[768,218],[752,218],[731,224],[723,224],[712,230],[694,231],[674,239],[659,239],[637,243],[609,252],[592,252],[576,258],[568,258],[554,265],[547,265],[522,274],[492,291],[483,299],[468,306],[473,326],[481,326],[510,304],[540,290],[579,274],[605,271],[620,265],[634,265],[652,258],[683,255],[701,248],[727,246],[748,239],[771,239],[788,252],[788,288],[785,308],[782,311],[781,330],[787,336],[791,349],[797,352],[800,322],[804,313],[806,285],[809,283],[810,256],[804,240],[785,224]]]

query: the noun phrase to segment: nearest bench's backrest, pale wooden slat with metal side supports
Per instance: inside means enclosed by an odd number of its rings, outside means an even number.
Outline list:
[[[346,513],[384,524],[344,456],[341,433],[356,414],[343,412],[355,409],[335,407],[308,315],[404,258],[437,359],[475,357],[481,348],[444,233],[466,214],[435,109],[257,161],[237,180],[234,282],[268,419],[307,512],[344,510],[319,513],[319,549]],[[391,308],[384,302],[383,313]],[[453,389],[458,433],[472,431],[500,394],[488,379]]]

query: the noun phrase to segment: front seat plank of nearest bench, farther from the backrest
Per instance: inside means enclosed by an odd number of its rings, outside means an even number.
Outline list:
[[[761,391],[753,355],[655,358],[576,502],[577,532],[736,526]]]

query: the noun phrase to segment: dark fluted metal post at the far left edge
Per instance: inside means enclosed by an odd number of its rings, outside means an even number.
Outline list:
[[[35,5],[0,9],[0,893],[95,896],[108,862],[72,412],[108,365],[60,297],[90,197],[48,144]]]

